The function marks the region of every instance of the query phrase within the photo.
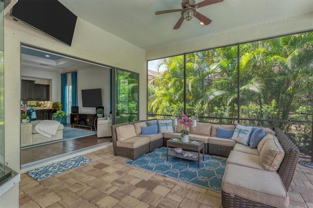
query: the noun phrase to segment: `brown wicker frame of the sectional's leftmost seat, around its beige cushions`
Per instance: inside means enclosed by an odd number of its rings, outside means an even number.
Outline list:
[[[136,160],[137,157],[139,157],[140,155],[148,153],[149,144],[140,146],[138,148],[126,148],[126,147],[116,146],[116,141],[117,141],[116,127],[122,126],[122,125],[129,125],[129,123],[116,124],[116,125],[111,126],[114,155],[124,156],[124,157],[131,158],[132,160]]]

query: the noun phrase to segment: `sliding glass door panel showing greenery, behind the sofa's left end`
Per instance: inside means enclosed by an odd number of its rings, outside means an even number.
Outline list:
[[[116,69],[115,124],[138,120],[138,80],[139,74]]]

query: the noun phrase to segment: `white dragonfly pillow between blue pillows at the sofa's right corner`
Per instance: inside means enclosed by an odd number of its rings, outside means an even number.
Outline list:
[[[251,133],[254,128],[255,128],[254,126],[250,126],[250,125],[237,124],[235,127],[235,132],[230,139],[240,144],[243,144],[245,146],[248,146]]]

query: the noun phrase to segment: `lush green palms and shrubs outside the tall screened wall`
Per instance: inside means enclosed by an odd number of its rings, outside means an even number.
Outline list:
[[[149,81],[148,114],[279,126],[311,152],[313,32],[168,57],[161,65],[166,70]]]

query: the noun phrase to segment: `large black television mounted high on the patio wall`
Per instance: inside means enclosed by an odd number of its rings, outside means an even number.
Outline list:
[[[77,16],[58,0],[19,0],[10,16],[69,46],[72,43]]]

